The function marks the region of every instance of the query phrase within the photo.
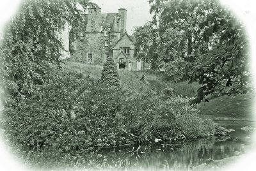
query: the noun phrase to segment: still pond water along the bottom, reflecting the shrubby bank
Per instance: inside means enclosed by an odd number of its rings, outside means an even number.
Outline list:
[[[219,121],[232,129],[230,137],[201,138],[177,144],[141,145],[138,152],[132,147],[104,149],[99,164],[91,168],[102,170],[198,170],[198,166],[215,163],[225,158],[239,156],[250,150],[250,133],[241,130],[254,123]],[[134,147],[134,151],[138,146]],[[206,164],[207,163],[207,164]],[[228,163],[227,163],[228,164]],[[90,166],[90,164],[88,165]],[[204,169],[205,170],[205,169]]]

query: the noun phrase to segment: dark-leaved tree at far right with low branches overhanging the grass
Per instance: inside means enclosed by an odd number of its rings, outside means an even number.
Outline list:
[[[202,34],[207,43],[216,34],[219,40],[207,54],[198,57],[189,74],[190,82],[202,85],[193,103],[207,101],[208,94],[220,96],[250,91],[248,37],[243,23],[228,9],[216,5],[200,24],[198,34]]]

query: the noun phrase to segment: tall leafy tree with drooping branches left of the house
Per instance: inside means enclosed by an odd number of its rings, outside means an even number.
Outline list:
[[[6,26],[1,44],[1,87],[17,101],[44,84],[50,66],[60,66],[66,24],[81,21],[79,6],[95,6],[89,0],[26,0]]]

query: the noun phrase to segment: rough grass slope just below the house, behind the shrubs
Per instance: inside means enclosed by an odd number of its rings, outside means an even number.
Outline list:
[[[102,66],[94,66],[91,64],[72,63],[67,62],[62,65],[64,70],[76,70],[77,72],[90,75],[92,78],[100,79],[102,73]],[[171,87],[173,93],[182,97],[195,96],[198,84],[188,84],[187,82],[174,83],[170,79],[159,71],[125,71],[118,70],[121,85],[127,89],[139,90],[141,86],[147,86],[150,89],[155,89],[161,92],[165,87]],[[144,81],[141,80],[144,75]]]

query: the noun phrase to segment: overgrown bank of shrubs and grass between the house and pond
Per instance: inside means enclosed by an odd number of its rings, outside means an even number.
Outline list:
[[[143,144],[228,136],[227,129],[189,105],[193,93],[179,91],[196,84],[174,84],[152,71],[120,70],[120,86],[108,86],[98,66],[67,62],[51,70],[33,96],[4,110],[6,140],[28,163],[42,158],[74,163],[108,147],[138,152]]]

